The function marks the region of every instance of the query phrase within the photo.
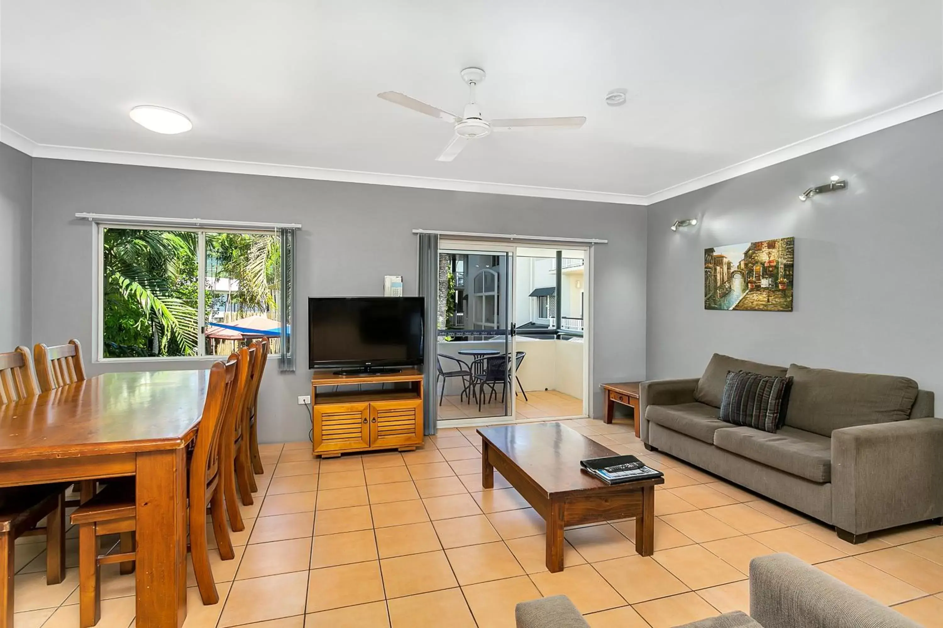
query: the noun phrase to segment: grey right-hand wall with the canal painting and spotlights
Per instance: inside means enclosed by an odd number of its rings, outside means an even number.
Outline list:
[[[943,392],[941,145],[935,113],[649,207],[648,377],[697,377],[718,351]],[[849,189],[799,201],[832,174]],[[705,248],[789,235],[792,313],[703,309]]]

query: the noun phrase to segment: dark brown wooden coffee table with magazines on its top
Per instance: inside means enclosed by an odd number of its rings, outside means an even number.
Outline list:
[[[481,484],[494,487],[497,469],[547,522],[547,569],[563,571],[568,525],[636,518],[636,552],[654,550],[654,487],[658,477],[608,485],[580,470],[580,460],[617,454],[558,423],[481,427]]]

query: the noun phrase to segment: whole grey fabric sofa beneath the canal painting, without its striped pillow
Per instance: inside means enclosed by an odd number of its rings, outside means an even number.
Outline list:
[[[718,418],[728,371],[793,377],[775,433]],[[639,431],[662,450],[835,526],[841,539],[943,517],[943,419],[910,378],[715,354],[701,378],[642,382]]]

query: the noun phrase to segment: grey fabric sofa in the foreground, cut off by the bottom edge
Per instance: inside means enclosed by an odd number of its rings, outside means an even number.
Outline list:
[[[521,602],[517,628],[588,628],[565,595]],[[678,628],[920,628],[915,621],[789,554],[750,561],[750,615],[735,611]]]

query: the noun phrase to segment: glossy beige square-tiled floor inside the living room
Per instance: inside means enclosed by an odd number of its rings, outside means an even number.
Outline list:
[[[569,529],[566,569],[544,568],[544,524],[499,475],[481,489],[472,428],[422,450],[311,459],[309,443],[263,446],[266,475],[242,507],[235,560],[213,552],[221,602],[190,580],[188,628],[422,628],[514,625],[514,604],[565,593],[593,628],[663,628],[748,610],[753,556],[790,552],[926,626],[943,626],[943,527],[924,524],[850,545],[827,527],[645,452],[624,424],[564,422],[665,471],[655,552],[637,556],[634,522]],[[78,622],[74,530],[66,581],[46,587],[41,544],[17,547],[17,628]],[[112,569],[113,568],[113,569]],[[134,578],[103,573],[102,628],[134,620]]]

